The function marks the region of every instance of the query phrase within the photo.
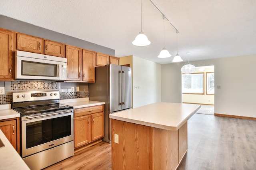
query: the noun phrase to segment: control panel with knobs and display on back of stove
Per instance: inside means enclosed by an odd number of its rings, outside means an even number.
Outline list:
[[[20,91],[12,93],[13,102],[60,99],[59,91]]]

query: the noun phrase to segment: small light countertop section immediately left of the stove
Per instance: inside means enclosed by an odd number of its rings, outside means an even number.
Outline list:
[[[11,109],[11,105],[0,105],[0,120],[20,117],[20,113]]]

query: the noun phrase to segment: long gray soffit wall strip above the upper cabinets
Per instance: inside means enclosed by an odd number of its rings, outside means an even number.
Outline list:
[[[45,28],[34,26],[32,24],[28,24],[26,22],[15,20],[2,15],[0,15],[0,28],[21,32],[24,34],[28,34],[31,36],[36,36],[36,37],[40,37],[40,38],[44,38],[44,39],[48,39],[56,42],[66,43],[68,45],[74,45],[76,47],[80,47],[84,49],[90,49],[92,51],[101,52],[108,55],[113,55],[113,56],[115,55],[114,49],[97,45],[95,43],[86,42],[78,38],[60,34],[58,32],[47,30]]]

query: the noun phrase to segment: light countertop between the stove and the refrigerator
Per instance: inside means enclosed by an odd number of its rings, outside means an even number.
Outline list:
[[[105,104],[104,102],[100,102],[100,101],[91,101],[87,97],[78,98],[78,99],[64,99],[64,100],[60,100],[60,103],[63,105],[73,106],[74,109]]]

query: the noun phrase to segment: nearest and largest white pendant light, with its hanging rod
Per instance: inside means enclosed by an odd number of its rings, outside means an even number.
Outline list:
[[[144,34],[144,32],[142,32],[142,0],[140,0],[140,26],[141,26],[141,30],[138,34],[138,36],[136,36],[135,40],[132,42],[133,45],[136,46],[146,46],[149,45],[151,42],[148,40],[147,36]]]

